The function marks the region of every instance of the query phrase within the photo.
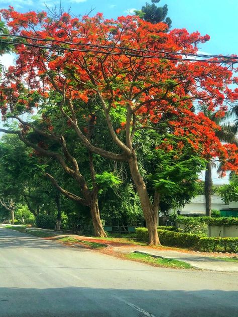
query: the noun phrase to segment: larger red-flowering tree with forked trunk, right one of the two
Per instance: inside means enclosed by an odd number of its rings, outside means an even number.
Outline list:
[[[223,116],[227,103],[238,98],[238,90],[228,87],[232,83],[232,57],[193,57],[197,46],[209,36],[189,34],[185,29],[165,32],[166,24],[153,25],[138,17],[104,20],[97,14],[79,20],[66,13],[48,17],[45,12],[22,14],[13,8],[1,12],[11,35],[8,41],[14,43],[17,54],[16,67],[9,68],[1,85],[3,115],[18,119],[19,113],[50,104],[49,92],[54,91],[61,116],[90,155],[128,163],[150,244],[159,244],[161,193],[154,186],[150,198],[138,162],[138,135],[141,139],[148,130],[160,134],[158,147],[164,146],[165,134],[182,136],[201,158],[219,157],[223,170],[237,170],[236,145],[222,144],[215,134],[219,126],[193,107],[198,101]],[[33,102],[36,95],[38,100]],[[98,115],[115,145],[113,151],[88,137],[90,129],[85,129],[85,124],[90,121],[90,127],[96,128]],[[57,131],[50,125],[50,112],[44,120],[48,126],[43,133],[52,138]],[[21,124],[17,133],[26,142],[28,129],[34,127],[29,122]],[[64,138],[58,138],[66,158],[77,169]],[[183,146],[184,141],[181,143],[165,146],[170,150]]]

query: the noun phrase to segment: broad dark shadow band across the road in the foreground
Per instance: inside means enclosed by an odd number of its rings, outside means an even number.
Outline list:
[[[238,291],[0,287],[1,317],[230,317]]]

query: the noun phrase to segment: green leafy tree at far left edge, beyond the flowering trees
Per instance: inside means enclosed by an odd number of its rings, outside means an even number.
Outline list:
[[[39,157],[34,157],[31,149],[16,135],[2,137],[0,141],[2,201],[14,202],[17,218],[26,220],[31,213],[36,217],[46,210],[48,214],[55,212],[58,191],[43,177],[41,173],[43,166],[39,165],[38,160]]]

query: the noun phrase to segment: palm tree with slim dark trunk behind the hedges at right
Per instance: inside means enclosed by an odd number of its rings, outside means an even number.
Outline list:
[[[238,144],[237,139],[237,126],[230,125],[229,123],[225,123],[224,119],[231,116],[231,113],[228,112],[226,114],[226,117],[220,118],[216,117],[216,113],[211,113],[210,111],[205,111],[203,109],[204,114],[212,121],[214,121],[217,125],[220,126],[220,129],[216,130],[215,134],[219,138],[221,142],[224,143],[235,143]],[[238,106],[237,106],[237,123],[238,123]],[[205,171],[205,181],[204,181],[204,192],[205,192],[205,211],[206,216],[211,216],[211,193],[212,193],[212,177],[211,177],[211,171],[212,166],[214,164],[211,161],[207,162],[206,165],[206,171]],[[218,169],[219,170],[219,169]]]

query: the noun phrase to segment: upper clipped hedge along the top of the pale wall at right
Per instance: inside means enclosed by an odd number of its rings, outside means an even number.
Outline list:
[[[209,226],[238,226],[238,218],[234,217],[221,217],[221,218],[211,218],[211,217],[185,217],[178,216],[176,219],[177,223],[181,224],[192,224],[192,223],[206,223]]]

